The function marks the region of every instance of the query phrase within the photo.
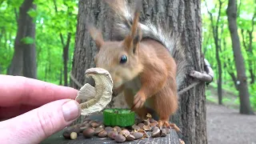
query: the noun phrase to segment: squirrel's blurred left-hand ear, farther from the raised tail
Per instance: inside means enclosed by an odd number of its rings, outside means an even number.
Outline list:
[[[102,32],[100,30],[97,30],[95,26],[93,26],[91,23],[87,22],[86,27],[90,32],[91,38],[94,39],[94,42],[96,43],[97,49],[99,50],[103,43],[104,39],[102,37]]]

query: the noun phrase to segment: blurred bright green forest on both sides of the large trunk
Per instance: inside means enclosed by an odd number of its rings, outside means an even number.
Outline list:
[[[210,102],[239,107],[237,71],[228,27],[228,0],[202,0],[202,50],[214,69]],[[78,0],[0,0],[0,74],[69,85]],[[256,110],[254,0],[238,1],[238,34]]]

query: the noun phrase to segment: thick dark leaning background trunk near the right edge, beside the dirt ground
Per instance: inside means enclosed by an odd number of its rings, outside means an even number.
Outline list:
[[[240,46],[240,40],[238,36],[238,26],[237,26],[237,1],[229,0],[228,7],[226,9],[226,14],[228,16],[228,23],[230,29],[230,35],[232,40],[232,48],[234,51],[234,62],[237,69],[237,81],[239,98],[240,98],[240,113],[241,114],[254,114],[250,106],[249,91],[247,86],[246,78],[246,68],[244,64],[244,59],[242,57],[242,51]]]

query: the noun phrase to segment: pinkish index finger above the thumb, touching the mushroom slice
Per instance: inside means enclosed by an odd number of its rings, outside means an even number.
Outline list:
[[[74,99],[78,90],[33,78],[0,74],[0,106],[41,106],[58,99]]]

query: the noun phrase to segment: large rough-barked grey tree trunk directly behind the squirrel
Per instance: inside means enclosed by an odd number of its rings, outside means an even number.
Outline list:
[[[150,1],[150,2],[149,2]],[[131,1],[134,2],[134,1]],[[161,19],[174,28],[174,31],[182,33],[183,44],[186,46],[186,58],[191,69],[202,71],[202,19],[201,1],[165,1],[165,0],[144,0],[142,10],[143,17],[150,18],[151,22]],[[112,26],[111,11],[106,3],[99,0],[83,1],[78,3],[78,26],[74,49],[74,60],[72,62],[72,75],[81,84],[90,82],[85,79],[86,69],[94,67],[94,55],[96,47],[89,32],[86,30],[86,22],[91,22],[94,26],[102,28],[105,40],[114,40],[111,36]],[[184,86],[194,82],[192,78],[187,78]],[[70,86],[79,89],[74,82]],[[189,90],[180,98],[180,106],[177,114],[172,118],[182,130],[182,135],[186,143],[206,144],[206,97],[204,85],[196,86]],[[114,96],[110,107],[124,107],[122,94]]]

